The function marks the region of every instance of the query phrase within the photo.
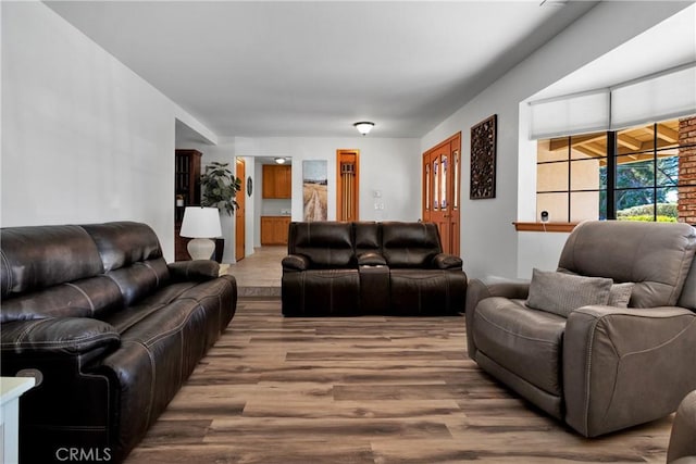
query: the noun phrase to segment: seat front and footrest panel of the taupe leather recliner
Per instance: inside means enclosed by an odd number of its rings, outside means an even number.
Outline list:
[[[492,297],[474,312],[469,334],[480,352],[535,387],[560,397],[566,318],[526,308],[522,300]]]

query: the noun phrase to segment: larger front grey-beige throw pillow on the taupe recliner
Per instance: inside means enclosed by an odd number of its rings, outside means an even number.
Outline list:
[[[534,268],[526,305],[568,317],[571,311],[588,304],[607,304],[613,281]]]

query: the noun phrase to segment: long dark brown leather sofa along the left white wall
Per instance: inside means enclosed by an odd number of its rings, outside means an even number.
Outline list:
[[[232,319],[219,264],[166,264],[145,224],[0,229],[3,376],[23,463],[121,462]]]

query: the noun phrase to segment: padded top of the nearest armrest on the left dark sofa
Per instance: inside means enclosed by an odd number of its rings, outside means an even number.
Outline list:
[[[3,353],[52,352],[83,354],[117,346],[121,336],[103,321],[89,317],[60,317],[14,321],[2,324]]]

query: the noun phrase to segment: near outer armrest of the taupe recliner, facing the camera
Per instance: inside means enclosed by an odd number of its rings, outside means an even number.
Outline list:
[[[566,422],[595,437],[669,415],[696,386],[695,346],[696,314],[683,308],[571,312],[563,335]]]

